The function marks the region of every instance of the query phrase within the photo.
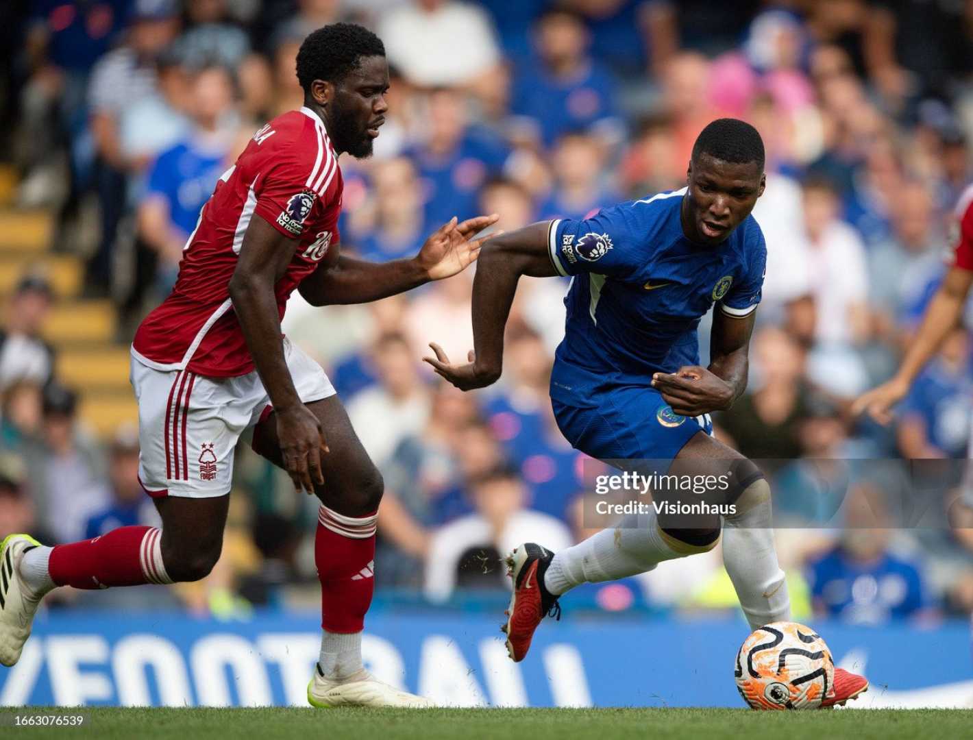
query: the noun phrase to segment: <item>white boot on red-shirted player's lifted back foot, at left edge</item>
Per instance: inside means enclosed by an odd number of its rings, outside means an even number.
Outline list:
[[[14,665],[30,637],[30,625],[43,596],[34,597],[18,568],[27,547],[40,546],[30,535],[10,535],[0,543],[0,664]]]

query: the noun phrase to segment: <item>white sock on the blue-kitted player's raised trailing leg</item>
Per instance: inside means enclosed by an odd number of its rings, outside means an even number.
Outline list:
[[[668,545],[659,531],[656,512],[625,517],[617,526],[602,529],[587,540],[556,553],[544,586],[561,594],[581,583],[617,581],[651,571],[657,563],[684,557]]]

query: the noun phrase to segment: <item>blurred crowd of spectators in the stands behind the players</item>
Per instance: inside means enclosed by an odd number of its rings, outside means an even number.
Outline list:
[[[128,332],[171,287],[220,173],[254,130],[301,105],[295,54],[325,23],[374,28],[390,64],[375,157],[342,159],[342,251],[373,261],[414,255],[452,216],[496,212],[496,228],[510,230],[680,188],[706,123],[753,123],[767,148],[767,191],[754,212],[767,278],[749,389],[717,420],[717,435],[772,461],[778,513],[802,525],[778,532],[795,616],[881,623],[973,609],[973,530],[950,518],[959,476],[942,477],[933,524],[916,529],[893,525],[913,493],[908,476],[855,463],[965,457],[966,330],[951,335],[892,425],[847,413],[895,369],[945,271],[971,174],[973,2],[13,8],[0,29],[15,50],[2,62],[0,116],[3,156],[22,174],[18,204],[57,213],[54,248],[86,257],[86,292],[114,300]],[[429,341],[453,359],[472,348],[471,286],[468,270],[367,306],[315,309],[295,297],[284,327],[328,370],[385,477],[378,585],[436,602],[502,588],[499,555],[524,540],[558,549],[590,534],[582,456],[560,436],[548,399],[566,283],[522,280],[502,380],[462,394],[419,359]],[[137,435],[119,430],[107,450],[93,443],[74,422],[75,391],[52,378],[51,348],[38,338],[52,300],[43,280],[25,278],[0,336],[0,532],[62,542],[155,514],[134,477]],[[703,364],[707,332],[704,322]],[[240,454],[236,482],[211,580],[138,598],[234,613],[316,582],[315,503],[252,454]],[[718,548],[579,590],[606,611],[735,603]]]

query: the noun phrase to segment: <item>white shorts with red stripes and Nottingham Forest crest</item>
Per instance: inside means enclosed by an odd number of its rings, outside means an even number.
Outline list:
[[[304,403],[335,395],[324,370],[284,338],[284,358]],[[256,370],[206,377],[155,370],[131,358],[138,402],[138,478],[150,496],[203,499],[230,493],[237,440],[270,413]]]

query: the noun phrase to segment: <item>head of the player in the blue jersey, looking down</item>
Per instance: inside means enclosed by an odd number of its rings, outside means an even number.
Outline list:
[[[719,244],[764,193],[764,142],[757,129],[738,119],[709,123],[693,145],[686,179],[683,230],[693,241]]]

